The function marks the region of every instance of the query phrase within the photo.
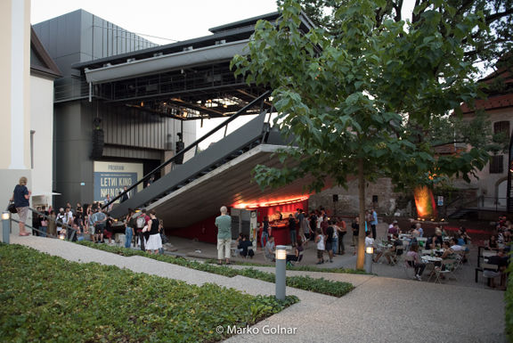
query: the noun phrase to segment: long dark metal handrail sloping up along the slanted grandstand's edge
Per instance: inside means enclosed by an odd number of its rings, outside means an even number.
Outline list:
[[[115,198],[113,198],[112,200],[110,200],[109,202],[107,202],[106,204],[103,204],[102,205],[102,208],[108,208],[110,206],[110,204],[114,203],[116,200],[120,199],[123,194],[125,193],[128,193],[130,191],[132,191],[135,187],[137,187],[139,184],[142,184],[144,181],[148,180],[152,175],[154,175],[155,173],[157,173],[160,169],[162,169],[163,167],[166,167],[168,164],[170,164],[171,162],[174,162],[175,159],[177,159],[179,156],[181,155],[184,155],[185,152],[187,151],[190,151],[192,148],[195,148],[199,145],[199,143],[203,142],[204,140],[206,140],[209,136],[211,135],[214,135],[219,129],[223,128],[223,127],[228,127],[228,124],[230,124],[234,119],[236,118],[239,118],[240,115],[242,115],[242,113],[246,112],[248,109],[250,109],[251,107],[253,107],[256,102],[264,102],[265,98],[267,98],[269,96],[269,94],[271,94],[271,91],[266,91],[264,94],[258,96],[255,100],[253,100],[252,102],[249,102],[246,106],[244,106],[242,109],[238,110],[237,113],[233,114],[232,116],[228,117],[226,120],[224,120],[224,122],[222,122],[221,124],[219,124],[218,126],[214,127],[212,130],[208,131],[208,133],[206,135],[203,135],[202,137],[200,137],[198,140],[196,140],[196,142],[194,143],[191,143],[190,145],[188,145],[187,147],[185,147],[182,151],[179,151],[178,153],[175,154],[175,156],[173,156],[172,158],[170,159],[167,159],[166,162],[162,163],[159,167],[156,167],[154,168],[153,170],[151,170],[150,173],[146,174],[145,176],[142,176],[142,179],[139,180],[138,182],[136,182],[135,184],[132,184],[130,186],[130,188],[127,188],[126,191],[124,192],[120,192]]]

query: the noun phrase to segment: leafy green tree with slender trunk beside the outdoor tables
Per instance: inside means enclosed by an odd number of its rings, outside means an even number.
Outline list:
[[[273,89],[275,124],[296,147],[281,151],[281,168],[257,166],[256,182],[279,186],[311,175],[309,190],[320,191],[329,179],[346,186],[357,176],[364,223],[367,182],[387,176],[398,185],[418,184],[433,171],[467,176],[484,167],[486,151],[436,158],[424,137],[479,94],[470,78],[476,66],[465,56],[474,30],[488,26],[480,12],[452,26],[441,14],[450,6],[437,0],[426,2],[431,9],[415,22],[377,18],[384,0],[337,3],[330,13],[336,27],[303,32],[300,4],[284,0],[280,20],[258,21],[248,54],[235,56],[232,67],[248,83]],[[356,267],[363,263],[360,230]]]

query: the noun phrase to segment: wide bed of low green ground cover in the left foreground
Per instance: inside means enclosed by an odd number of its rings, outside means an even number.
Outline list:
[[[3,342],[212,342],[297,302],[0,245]]]

